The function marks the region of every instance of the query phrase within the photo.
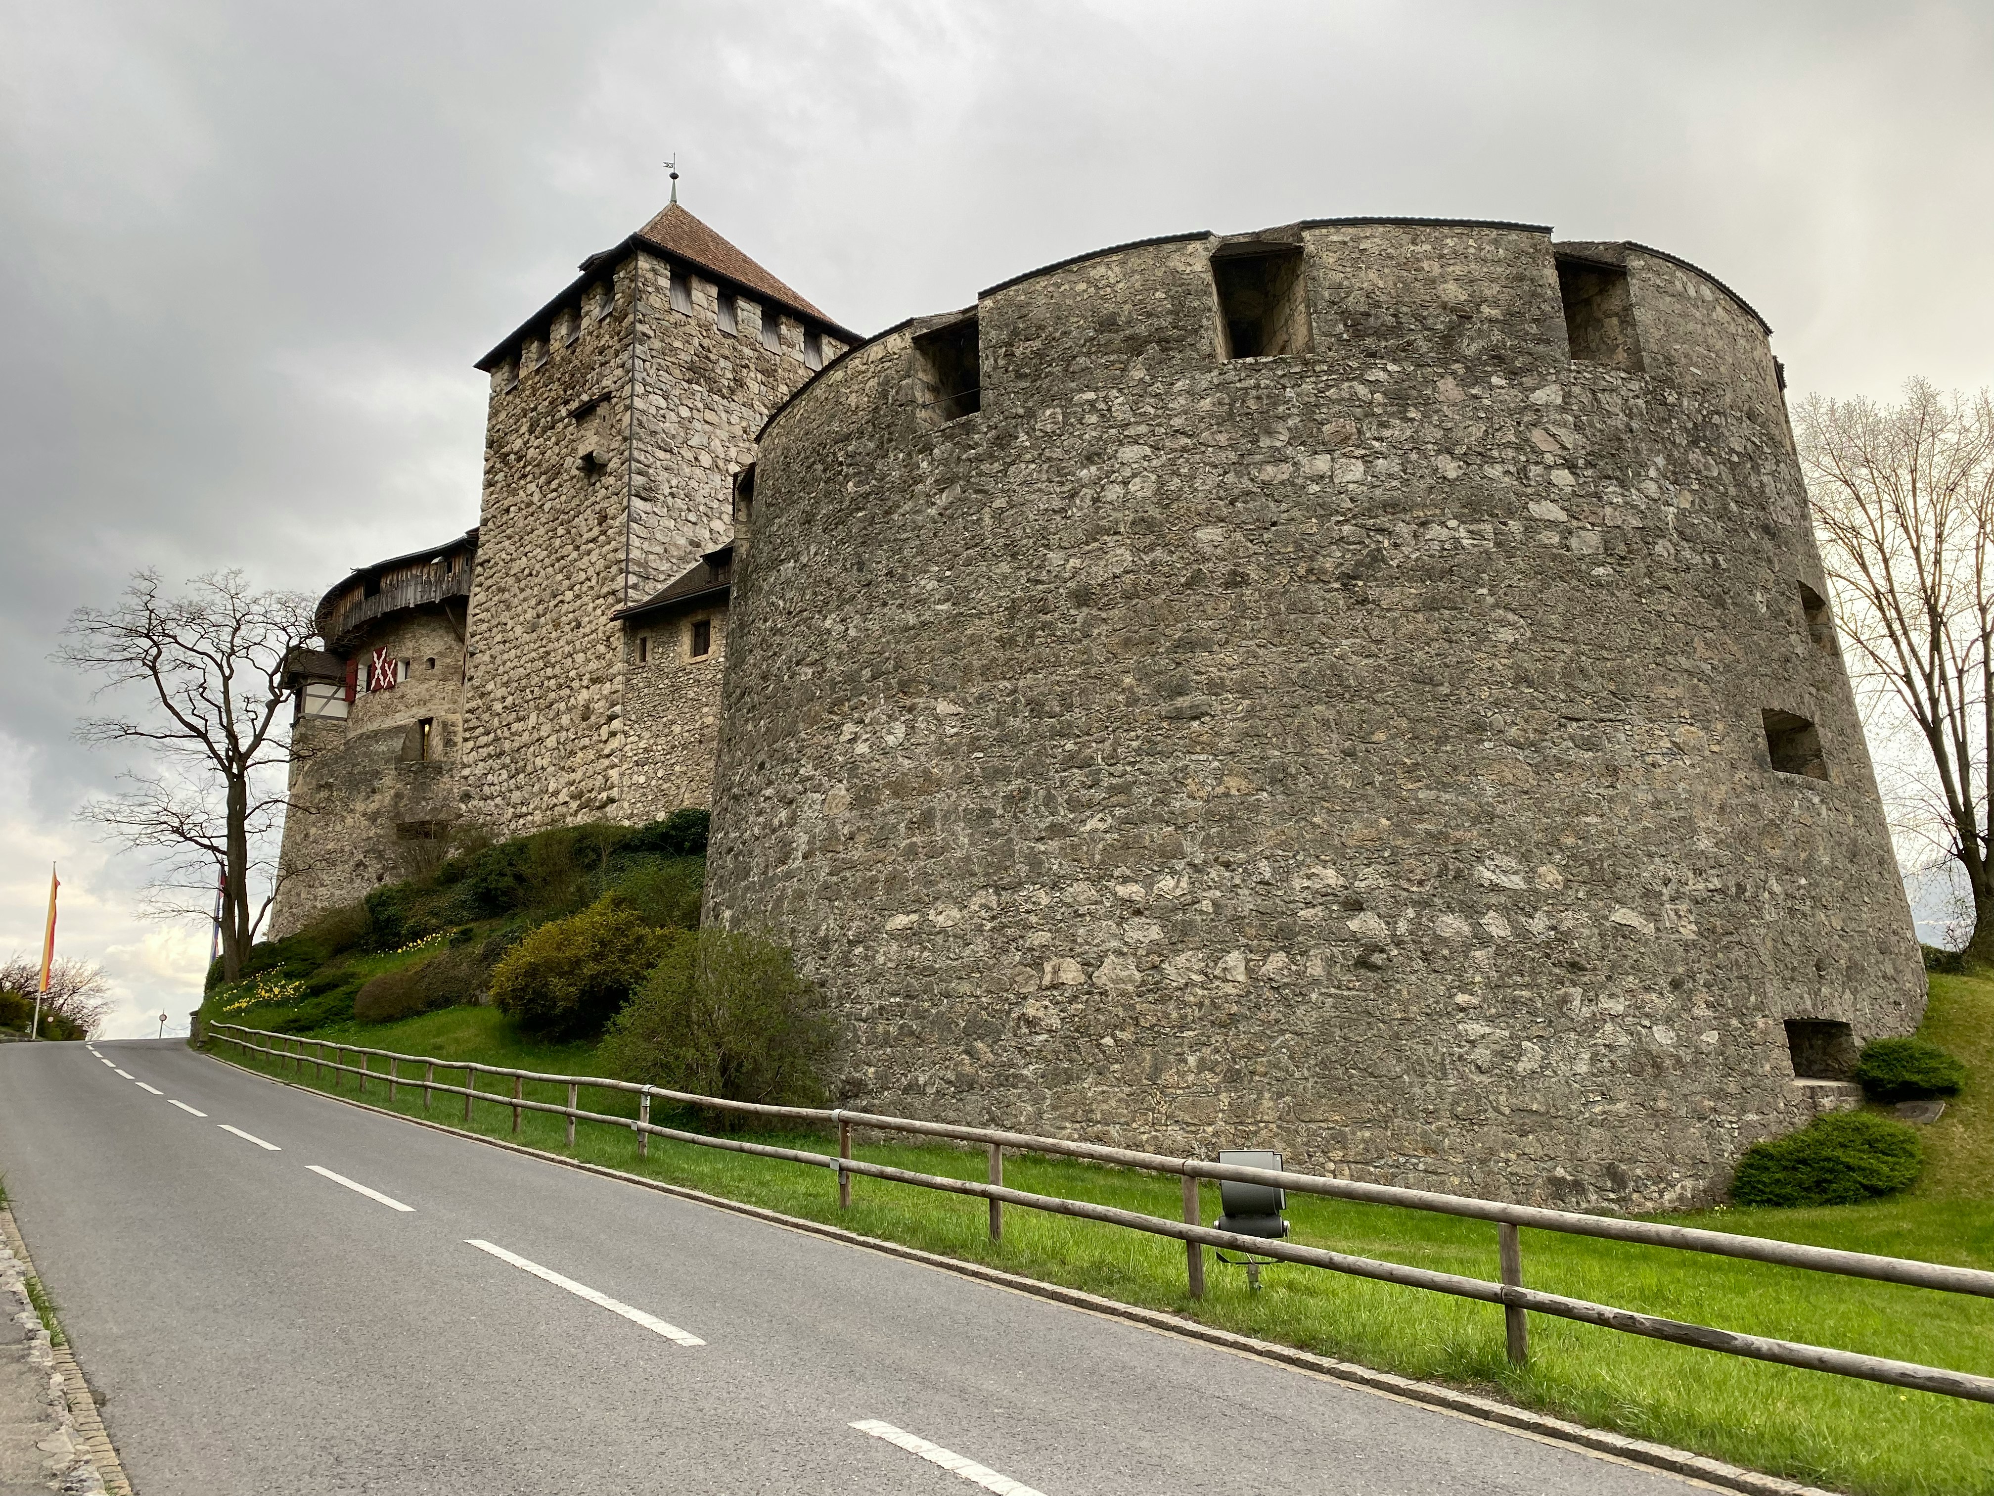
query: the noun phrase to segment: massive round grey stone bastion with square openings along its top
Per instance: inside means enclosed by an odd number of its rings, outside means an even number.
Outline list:
[[[1103,249],[742,491],[708,910],[843,1105],[1659,1209],[1922,1015],[1767,327],[1667,253]]]

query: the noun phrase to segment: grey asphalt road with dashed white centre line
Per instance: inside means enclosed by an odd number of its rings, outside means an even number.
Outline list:
[[[0,1171],[142,1496],[1689,1488],[175,1039],[98,1049],[132,1079],[0,1045]]]

